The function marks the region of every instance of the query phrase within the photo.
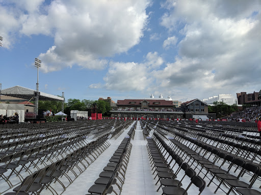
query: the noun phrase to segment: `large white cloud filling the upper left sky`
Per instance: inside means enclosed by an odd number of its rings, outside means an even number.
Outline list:
[[[0,18],[8,21],[1,25],[6,34],[17,28],[21,35],[54,37],[54,46],[40,55],[42,70],[51,72],[73,64],[102,69],[108,63],[106,57],[139,44],[148,19],[145,9],[150,2],[54,0],[46,5],[43,0],[27,0],[6,4],[8,11],[0,7],[5,11],[0,10]],[[11,45],[11,39],[5,39]]]

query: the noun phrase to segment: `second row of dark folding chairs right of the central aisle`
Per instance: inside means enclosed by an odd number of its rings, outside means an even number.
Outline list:
[[[178,139],[178,137],[182,140]],[[201,167],[199,173],[203,173],[204,169],[206,171],[204,177],[206,177],[207,174],[211,174],[212,179],[210,179],[210,183],[208,183],[207,186],[213,182],[214,178],[220,182],[219,185],[217,185],[218,187],[215,193],[221,184],[224,184],[228,188],[226,194],[229,194],[231,191],[240,194],[261,194],[260,191],[251,189],[258,177],[261,176],[260,166],[242,157],[238,157],[226,151],[220,151],[218,148],[184,137],[183,135],[177,134],[174,139],[170,141],[171,145],[175,146],[172,147],[172,149],[179,150],[180,154],[183,153],[182,156],[186,154],[186,158],[192,161],[191,164],[197,164],[196,168],[198,165]],[[181,143],[182,141],[184,141],[184,144]],[[209,154],[208,157],[207,154]],[[212,161],[210,160],[211,156]],[[220,164],[216,164],[220,159],[223,161]],[[229,173],[232,171],[232,167],[234,168],[233,172],[236,173],[238,171],[238,174]],[[250,182],[240,180],[245,173],[251,175]]]

